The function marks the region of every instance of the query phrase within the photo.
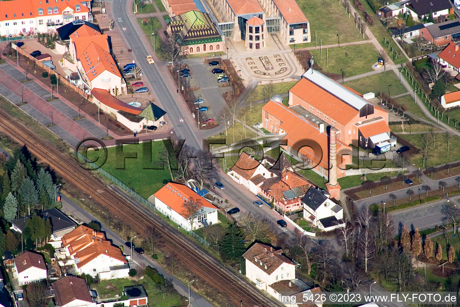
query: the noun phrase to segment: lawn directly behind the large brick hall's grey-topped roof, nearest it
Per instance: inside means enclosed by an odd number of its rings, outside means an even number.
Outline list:
[[[344,85],[362,94],[373,92],[376,96],[379,92],[388,94],[388,85],[391,85],[391,96],[407,92],[406,88],[402,84],[399,84],[399,78],[391,70],[348,81]]]

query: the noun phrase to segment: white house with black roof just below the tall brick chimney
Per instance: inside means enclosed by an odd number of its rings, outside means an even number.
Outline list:
[[[344,225],[343,209],[329,199],[329,194],[311,187],[302,197],[304,219],[321,230],[333,230]]]

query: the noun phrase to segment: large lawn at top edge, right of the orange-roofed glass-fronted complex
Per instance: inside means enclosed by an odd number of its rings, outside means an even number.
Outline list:
[[[297,2],[300,9],[310,22],[311,42],[296,44],[296,47],[315,46],[319,47],[320,39],[322,45],[332,45],[338,43],[337,33],[340,35],[340,43],[352,41],[363,41],[362,34],[356,29],[353,17],[348,18],[345,8],[339,5],[339,1],[332,0],[304,0]],[[331,17],[332,16],[332,17]],[[293,45],[289,45],[294,48]]]

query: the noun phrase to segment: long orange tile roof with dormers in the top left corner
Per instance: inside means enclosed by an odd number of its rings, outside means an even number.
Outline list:
[[[42,4],[40,4],[42,2]],[[1,20],[15,20],[35,17],[47,17],[47,16],[60,16],[62,17],[63,12],[69,7],[74,13],[89,12],[89,9],[82,5],[78,0],[58,0],[49,1],[45,3],[44,0],[11,0],[11,1],[0,1],[0,17]],[[75,5],[80,5],[80,11],[76,12]],[[58,13],[54,13],[54,7],[57,6]],[[48,14],[48,7],[52,8],[52,13]],[[43,14],[39,15],[38,9],[43,9]],[[16,14],[16,17],[14,16]]]

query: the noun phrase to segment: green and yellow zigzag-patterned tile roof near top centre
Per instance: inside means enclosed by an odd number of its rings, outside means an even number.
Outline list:
[[[216,25],[207,13],[189,11],[166,19],[173,34],[178,34],[186,45],[222,41]]]

